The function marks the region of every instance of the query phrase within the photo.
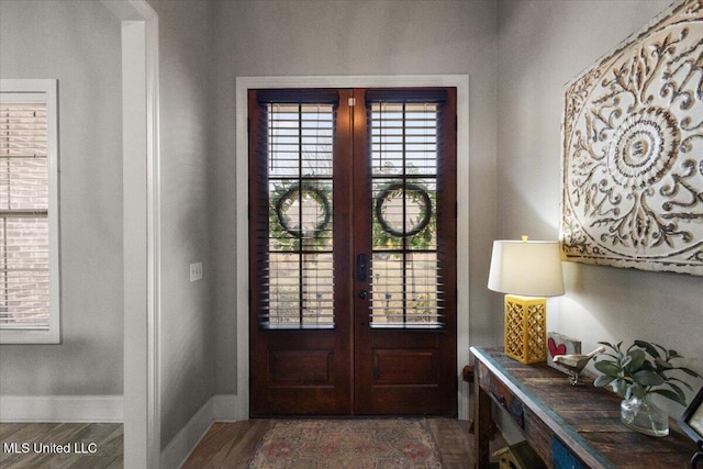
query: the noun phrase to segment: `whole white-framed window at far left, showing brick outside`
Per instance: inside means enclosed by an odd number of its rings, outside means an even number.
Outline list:
[[[56,80],[0,80],[0,343],[57,344]]]

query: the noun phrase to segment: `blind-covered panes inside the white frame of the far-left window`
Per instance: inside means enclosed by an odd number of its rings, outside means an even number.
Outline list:
[[[0,328],[49,328],[47,108],[0,103]]]

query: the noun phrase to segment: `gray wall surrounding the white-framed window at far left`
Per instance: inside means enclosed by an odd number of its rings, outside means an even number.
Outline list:
[[[63,335],[0,346],[0,394],[122,394],[120,60],[100,3],[0,2],[0,77],[58,79]]]

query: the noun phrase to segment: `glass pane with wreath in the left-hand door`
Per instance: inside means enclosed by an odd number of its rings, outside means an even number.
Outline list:
[[[332,104],[268,104],[268,283],[261,325],[334,326]]]

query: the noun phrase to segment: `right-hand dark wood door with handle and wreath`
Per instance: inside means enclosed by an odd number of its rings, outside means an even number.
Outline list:
[[[356,90],[357,414],[456,414],[456,91]]]

